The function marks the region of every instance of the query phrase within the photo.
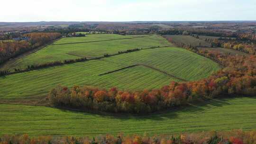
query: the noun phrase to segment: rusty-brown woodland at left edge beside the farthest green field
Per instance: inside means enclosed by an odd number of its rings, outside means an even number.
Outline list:
[[[61,37],[59,33],[28,33],[28,41],[0,41],[0,63]]]

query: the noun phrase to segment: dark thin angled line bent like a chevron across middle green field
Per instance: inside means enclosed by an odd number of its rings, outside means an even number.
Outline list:
[[[150,69],[155,70],[155,71],[157,71],[157,72],[164,73],[165,75],[167,75],[167,76],[169,76],[169,77],[171,77],[171,78],[174,78],[174,79],[177,79],[177,80],[180,80],[180,81],[187,81],[187,80],[185,80],[185,79],[183,79],[183,78],[179,78],[179,77],[177,77],[177,76],[175,76],[175,75],[173,75],[173,74],[170,74],[170,73],[168,73],[168,72],[162,71],[162,70],[160,70],[160,69],[157,69],[157,68],[155,68],[155,67],[152,67],[152,66],[149,66],[149,65],[146,65],[146,64],[133,64],[133,65],[129,65],[129,66],[126,66],[126,67],[123,67],[123,68],[120,68],[120,69],[117,69],[117,70],[114,70],[114,71],[101,73],[101,74],[99,74],[99,76],[106,75],[106,74],[110,74],[110,73],[113,73],[113,72],[118,72],[118,71],[125,70],[125,69],[128,69],[128,68],[132,68],[132,67],[135,67],[135,66],[144,66],[144,67],[146,67],[146,68],[150,68]]]

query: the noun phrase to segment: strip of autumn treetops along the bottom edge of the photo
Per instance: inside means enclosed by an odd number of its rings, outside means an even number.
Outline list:
[[[179,135],[101,135],[96,137],[2,135],[0,144],[255,144],[256,131],[201,132]]]

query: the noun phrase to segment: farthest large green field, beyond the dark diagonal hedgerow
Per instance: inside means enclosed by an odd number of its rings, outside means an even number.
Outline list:
[[[97,41],[106,39],[120,39],[138,36],[120,36],[120,35],[89,35],[86,37],[69,37],[56,41],[55,44],[75,43],[85,41]],[[77,59],[80,57],[95,57],[104,54],[115,54],[118,51],[124,51],[133,48],[145,48],[151,46],[170,45],[161,36],[148,36],[134,39],[122,39],[114,41],[103,41],[70,45],[49,45],[34,54],[30,54],[14,63],[10,63],[2,69],[24,68],[27,65],[47,63],[51,61],[61,61],[66,59]]]

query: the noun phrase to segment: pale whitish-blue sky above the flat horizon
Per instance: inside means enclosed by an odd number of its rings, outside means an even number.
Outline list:
[[[256,0],[1,0],[1,22],[256,20]]]

